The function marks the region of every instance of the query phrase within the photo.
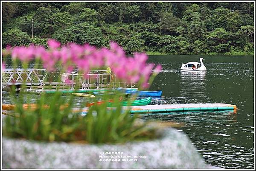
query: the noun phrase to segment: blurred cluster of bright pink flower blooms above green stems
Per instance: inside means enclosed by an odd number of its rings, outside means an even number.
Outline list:
[[[55,64],[60,61],[65,70],[77,68],[84,78],[90,70],[98,70],[101,67],[111,67],[111,73],[116,79],[124,82],[142,81],[142,86],[148,87],[148,80],[152,74],[158,74],[162,66],[147,64],[148,56],[145,53],[134,53],[133,57],[125,56],[124,50],[115,42],[110,43],[110,49],[97,50],[89,44],[76,45],[69,43],[61,47],[61,44],[53,39],[48,41],[50,50],[34,45],[15,47],[10,50],[13,59],[29,62],[33,57],[40,59],[44,68],[49,71],[55,69]]]

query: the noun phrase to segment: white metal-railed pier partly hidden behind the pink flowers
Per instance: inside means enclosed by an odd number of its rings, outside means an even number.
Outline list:
[[[22,68],[9,68],[5,69],[2,74],[2,85],[21,85],[26,84],[32,89],[33,86],[40,86],[42,90],[45,90],[47,86],[49,89],[55,87],[55,89],[68,88],[74,89],[75,86],[79,86],[81,89],[89,89],[94,87],[100,88],[114,88],[114,87],[135,87],[136,83],[116,82],[116,75],[109,73],[108,70],[90,70],[87,76],[79,73],[78,70],[73,71],[61,71],[65,73],[67,78],[70,78],[70,83],[64,82],[45,82],[47,76],[47,70],[45,69],[22,69]],[[62,75],[62,74],[61,74]],[[62,75],[63,76],[63,75]],[[111,78],[113,76],[113,79]]]

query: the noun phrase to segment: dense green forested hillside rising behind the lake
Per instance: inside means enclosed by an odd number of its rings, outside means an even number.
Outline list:
[[[127,53],[253,54],[253,2],[227,3],[3,3],[2,24],[8,44],[110,41]]]

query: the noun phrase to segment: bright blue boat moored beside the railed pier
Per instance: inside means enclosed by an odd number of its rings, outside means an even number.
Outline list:
[[[160,91],[139,91],[139,90],[129,90],[126,88],[115,88],[115,90],[123,93],[130,93],[130,94],[137,94],[138,96],[143,96],[143,97],[161,97],[162,95],[162,90]]]

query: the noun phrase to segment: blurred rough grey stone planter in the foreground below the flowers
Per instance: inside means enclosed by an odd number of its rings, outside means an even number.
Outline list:
[[[149,141],[116,145],[79,145],[74,143],[39,143],[3,137],[3,168],[58,169],[209,169],[189,138],[176,129],[164,129],[163,136]],[[132,156],[128,161],[99,161],[102,156]],[[134,158],[144,156],[145,158]],[[132,159],[133,161],[129,161]]]

